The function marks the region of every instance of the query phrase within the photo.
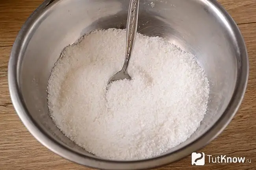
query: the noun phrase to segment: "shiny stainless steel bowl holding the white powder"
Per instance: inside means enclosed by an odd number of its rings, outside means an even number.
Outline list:
[[[93,29],[125,28],[129,0],[46,0],[19,32],[9,60],[13,106],[32,135],[76,163],[106,170],[165,165],[197,151],[231,121],[245,93],[248,57],[243,37],[215,0],[141,0],[138,31],[161,36],[197,56],[210,79],[209,107],[184,143],[152,159],[105,160],[70,141],[52,122],[47,80],[61,50]],[[170,66],[171,67],[171,66]]]

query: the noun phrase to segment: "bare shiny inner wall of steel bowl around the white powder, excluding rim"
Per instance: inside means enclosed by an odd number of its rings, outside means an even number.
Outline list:
[[[65,137],[49,116],[47,81],[65,46],[94,29],[125,28],[128,5],[129,0],[56,0],[37,14],[21,48],[18,83],[30,116],[52,139],[83,155],[94,157]],[[139,33],[195,54],[210,80],[200,127],[170,153],[204,134],[228,106],[241,69],[238,43],[225,16],[206,0],[141,0],[138,26]]]

